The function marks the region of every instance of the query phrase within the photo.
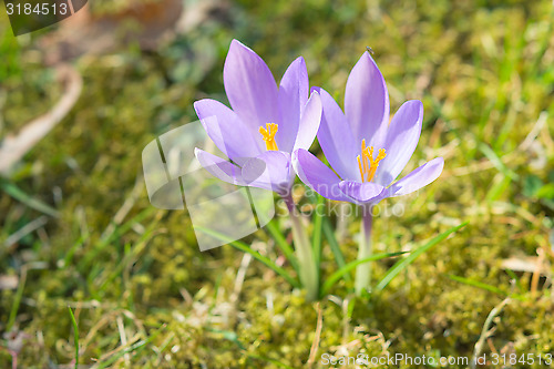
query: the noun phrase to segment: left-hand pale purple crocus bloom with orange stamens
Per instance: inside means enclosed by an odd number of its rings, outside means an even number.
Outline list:
[[[232,109],[212,99],[195,102],[194,109],[230,162],[199,148],[196,157],[219,180],[287,194],[295,178],[291,153],[309,148],[321,121],[319,93],[308,99],[304,59],[288,66],[277,86],[261,58],[233,40],[223,79]]]

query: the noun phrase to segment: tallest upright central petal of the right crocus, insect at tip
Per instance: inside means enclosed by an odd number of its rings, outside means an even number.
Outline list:
[[[383,147],[389,123],[389,93],[379,68],[367,51],[348,76],[345,114],[357,141],[366,139],[368,146]]]

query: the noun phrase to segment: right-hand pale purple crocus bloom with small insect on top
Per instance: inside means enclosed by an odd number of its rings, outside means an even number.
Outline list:
[[[368,52],[348,76],[345,113],[329,93],[314,90],[324,106],[317,136],[336,173],[302,148],[295,151],[293,164],[300,180],[321,196],[375,205],[427,186],[442,173],[444,160],[435,157],[391,185],[418,145],[423,104],[407,101],[389,124],[387,84]]]

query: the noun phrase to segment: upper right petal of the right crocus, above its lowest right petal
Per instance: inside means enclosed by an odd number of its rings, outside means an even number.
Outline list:
[[[387,156],[379,163],[375,182],[387,186],[402,172],[418,146],[423,121],[423,104],[407,101],[390,122],[384,145]]]

